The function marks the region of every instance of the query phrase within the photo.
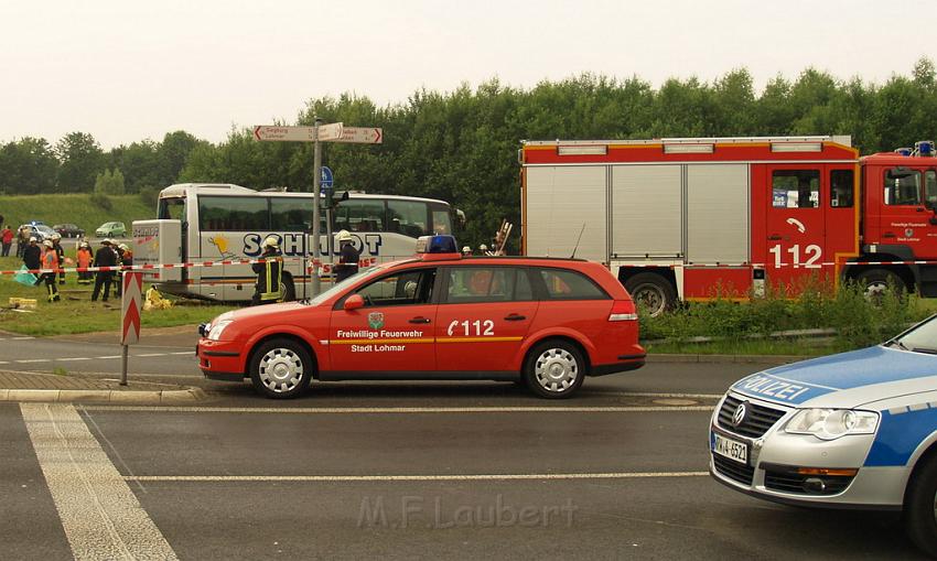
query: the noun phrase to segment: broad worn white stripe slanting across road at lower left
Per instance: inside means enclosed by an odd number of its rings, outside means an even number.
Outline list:
[[[76,560],[177,559],[73,406],[20,410]]]

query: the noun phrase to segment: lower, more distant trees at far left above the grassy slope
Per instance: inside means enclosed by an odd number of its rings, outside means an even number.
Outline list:
[[[71,132],[54,145],[26,137],[0,145],[0,192],[90,193],[99,175],[119,172],[126,177],[122,190],[138,193],[174,183],[200,144],[207,142],[185,131],[170,132],[162,142],[143,140],[108,152],[86,132]],[[106,192],[119,194],[115,188]]]

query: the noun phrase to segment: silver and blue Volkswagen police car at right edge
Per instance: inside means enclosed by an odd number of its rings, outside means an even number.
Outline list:
[[[710,422],[710,473],[801,506],[901,509],[937,555],[937,320],[883,345],[735,382]]]

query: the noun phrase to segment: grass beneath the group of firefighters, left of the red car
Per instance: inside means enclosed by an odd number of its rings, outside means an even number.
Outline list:
[[[19,269],[20,265],[19,259],[0,258],[2,270]],[[33,336],[119,332],[120,300],[114,298],[111,292],[110,301],[91,302],[91,287],[78,285],[77,279],[77,273],[66,273],[66,284],[58,287],[62,301],[50,303],[46,302],[44,284],[24,287],[15,282],[12,276],[0,276],[0,331]],[[149,287],[143,287],[144,290],[147,288]],[[11,296],[35,299],[36,309],[24,312],[12,311],[8,305]],[[169,310],[142,312],[143,327],[195,325],[236,308],[182,300]]]

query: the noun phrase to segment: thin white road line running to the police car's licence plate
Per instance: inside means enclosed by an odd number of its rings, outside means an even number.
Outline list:
[[[464,482],[515,479],[642,479],[702,477],[709,472],[509,473],[448,475],[136,475],[137,482]]]

